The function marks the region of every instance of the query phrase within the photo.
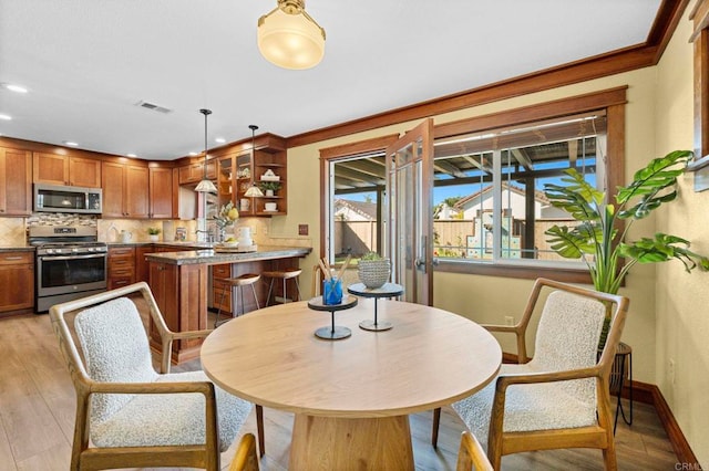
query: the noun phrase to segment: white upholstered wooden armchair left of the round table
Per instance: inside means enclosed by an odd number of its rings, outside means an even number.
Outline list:
[[[137,307],[126,297],[136,293],[163,339],[160,374]],[[65,320],[78,310],[81,354]],[[210,331],[171,332],[146,283],[54,305],[50,316],[76,390],[72,470],[219,469],[219,453],[234,441],[251,404],[216,387],[204,371],[169,373],[172,342]]]

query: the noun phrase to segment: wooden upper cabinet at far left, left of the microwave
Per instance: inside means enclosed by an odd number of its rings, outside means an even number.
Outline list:
[[[31,213],[32,153],[0,147],[0,216]]]

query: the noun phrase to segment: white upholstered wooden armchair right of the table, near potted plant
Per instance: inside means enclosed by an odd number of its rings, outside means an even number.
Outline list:
[[[543,289],[551,293],[541,310],[530,360],[525,334]],[[500,469],[504,454],[578,447],[603,450],[605,468],[617,469],[609,375],[627,307],[624,296],[538,279],[517,325],[485,326],[516,335],[518,364],[502,365],[496,380],[454,402],[453,409],[487,444],[494,469]],[[607,308],[610,327],[599,353]],[[439,417],[440,409],[434,412],[433,437]]]

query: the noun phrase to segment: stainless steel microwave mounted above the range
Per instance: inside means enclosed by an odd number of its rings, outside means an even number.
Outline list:
[[[101,188],[34,185],[34,211],[101,214]]]

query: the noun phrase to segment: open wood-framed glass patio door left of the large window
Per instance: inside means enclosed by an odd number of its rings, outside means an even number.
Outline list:
[[[403,300],[433,304],[433,119],[387,148],[387,247]]]

